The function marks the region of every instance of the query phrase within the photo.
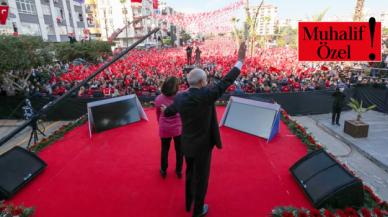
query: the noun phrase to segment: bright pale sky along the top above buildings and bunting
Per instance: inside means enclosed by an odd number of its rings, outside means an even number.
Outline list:
[[[162,0],[175,10],[184,13],[210,12],[223,8],[238,0]],[[245,2],[246,0],[244,0]],[[260,5],[261,0],[249,0],[249,5]],[[357,0],[264,0],[264,5],[278,7],[278,19],[301,20],[330,7],[325,17],[343,16],[354,13]],[[380,13],[388,12],[388,0],[365,0],[364,8],[370,8],[370,15],[380,17]],[[241,7],[236,12],[237,18],[245,20],[245,11]]]

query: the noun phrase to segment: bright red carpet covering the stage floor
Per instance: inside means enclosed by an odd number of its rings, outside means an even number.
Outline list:
[[[37,217],[191,216],[185,211],[184,178],[174,173],[173,148],[166,179],[159,174],[158,124],[155,110],[148,110],[149,122],[92,139],[87,125],[71,131],[39,154],[48,167],[9,202],[36,205]],[[217,108],[219,120],[224,110]],[[224,149],[213,151],[207,216],[261,217],[280,205],[312,208],[288,171],[306,147],[283,122],[269,144],[227,127],[221,136]]]

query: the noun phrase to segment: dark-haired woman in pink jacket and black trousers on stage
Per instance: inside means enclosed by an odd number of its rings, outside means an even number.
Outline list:
[[[179,114],[166,118],[160,111],[162,105],[169,106],[174,102],[175,95],[179,90],[179,82],[179,78],[176,76],[168,77],[162,85],[162,94],[160,94],[155,99],[156,118],[159,123],[159,136],[162,140],[162,158],[159,172],[163,178],[165,178],[167,175],[168,152],[170,150],[170,143],[172,138],[174,138],[176,152],[175,173],[179,178],[182,178],[183,155],[181,145],[181,118]]]

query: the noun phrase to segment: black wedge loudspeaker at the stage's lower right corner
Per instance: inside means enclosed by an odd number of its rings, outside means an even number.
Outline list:
[[[290,172],[317,209],[364,205],[362,182],[324,149],[300,159]]]

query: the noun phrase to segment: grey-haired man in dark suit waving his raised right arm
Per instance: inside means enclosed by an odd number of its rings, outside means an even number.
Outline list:
[[[182,120],[182,148],[186,160],[186,210],[194,202],[193,216],[205,216],[209,206],[204,205],[210,175],[214,146],[222,148],[214,103],[240,75],[245,61],[246,45],[238,51],[235,67],[212,88],[206,86],[206,73],[193,69],[188,75],[190,89],[178,94],[168,108],[162,105],[165,117],[179,113]]]

